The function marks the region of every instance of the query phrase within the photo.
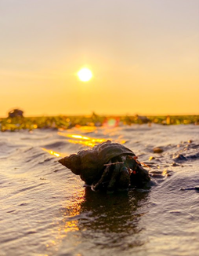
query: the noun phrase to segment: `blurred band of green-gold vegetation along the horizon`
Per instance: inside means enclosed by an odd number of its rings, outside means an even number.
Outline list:
[[[70,129],[74,126],[122,126],[143,123],[163,125],[199,124],[199,115],[161,115],[161,116],[102,116],[93,113],[88,116],[41,116],[13,117],[0,119],[1,131],[34,130],[34,129]]]

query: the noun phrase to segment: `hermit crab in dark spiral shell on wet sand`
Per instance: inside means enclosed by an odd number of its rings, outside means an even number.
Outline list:
[[[60,159],[59,162],[80,175],[85,185],[95,191],[142,188],[150,176],[136,155],[122,144],[106,141],[89,150],[81,150]]]

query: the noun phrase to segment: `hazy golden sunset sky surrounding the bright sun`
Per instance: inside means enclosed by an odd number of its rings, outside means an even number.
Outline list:
[[[198,0],[1,0],[0,32],[0,116],[199,114]]]

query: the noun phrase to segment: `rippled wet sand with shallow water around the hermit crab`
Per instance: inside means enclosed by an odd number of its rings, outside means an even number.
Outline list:
[[[150,166],[149,190],[92,192],[57,162],[107,139]],[[0,133],[0,255],[198,255],[197,187],[199,126]]]

